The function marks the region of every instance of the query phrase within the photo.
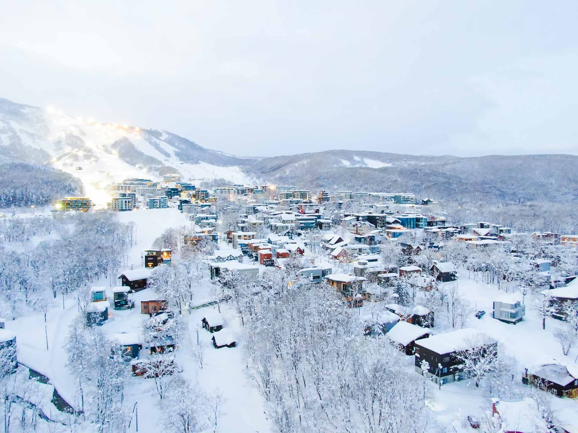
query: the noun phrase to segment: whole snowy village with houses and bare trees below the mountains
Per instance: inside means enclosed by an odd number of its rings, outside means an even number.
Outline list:
[[[179,174],[53,205],[0,218],[6,433],[578,432],[576,234]]]

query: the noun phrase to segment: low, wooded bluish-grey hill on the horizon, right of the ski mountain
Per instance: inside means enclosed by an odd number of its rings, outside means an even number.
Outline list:
[[[312,189],[413,192],[455,201],[578,200],[578,156],[402,155],[332,150],[264,158],[255,177]]]

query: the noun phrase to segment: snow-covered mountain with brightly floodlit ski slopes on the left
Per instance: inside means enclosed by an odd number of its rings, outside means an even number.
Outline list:
[[[0,99],[0,154],[80,178],[100,206],[110,184],[127,177],[155,180],[180,173],[184,180],[254,181],[240,169],[254,159],[209,150],[166,131],[99,123],[6,99]]]

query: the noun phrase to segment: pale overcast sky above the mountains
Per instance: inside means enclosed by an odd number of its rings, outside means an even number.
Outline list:
[[[239,155],[578,154],[577,17],[576,0],[3,2],[0,97]]]

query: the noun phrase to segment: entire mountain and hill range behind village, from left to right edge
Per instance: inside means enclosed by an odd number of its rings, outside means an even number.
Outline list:
[[[458,158],[331,150],[240,158],[164,130],[94,122],[7,99],[0,99],[0,154],[78,177],[87,195],[101,204],[112,182],[173,172],[195,182],[222,178],[313,191],[413,192],[455,201],[578,200],[578,156],[573,155]]]

